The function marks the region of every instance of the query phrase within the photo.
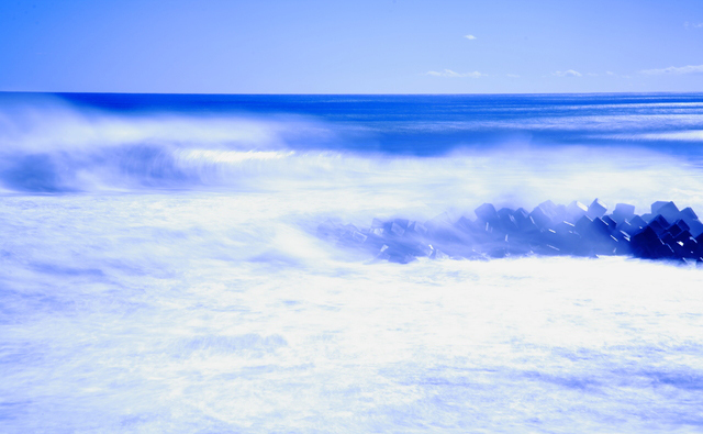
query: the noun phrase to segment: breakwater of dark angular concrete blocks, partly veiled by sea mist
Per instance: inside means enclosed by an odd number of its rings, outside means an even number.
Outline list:
[[[326,221],[317,235],[346,247],[367,251],[392,263],[429,258],[500,258],[525,255],[629,255],[646,259],[703,263],[703,223],[691,208],[657,201],[651,212],[637,215],[635,207],[607,207],[595,199],[589,207],[546,201],[527,212],[496,210],[483,203],[476,220],[457,221],[440,214],[424,223],[373,219],[368,227]]]

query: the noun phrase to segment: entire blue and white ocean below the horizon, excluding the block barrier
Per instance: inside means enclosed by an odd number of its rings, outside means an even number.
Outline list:
[[[0,93],[0,432],[698,433],[703,268],[320,234],[703,215],[703,93]]]

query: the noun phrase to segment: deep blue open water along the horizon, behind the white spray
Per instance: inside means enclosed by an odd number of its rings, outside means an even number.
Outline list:
[[[510,141],[682,149],[666,133],[701,127],[703,93],[472,96],[60,94],[121,114],[298,115],[334,124],[344,140],[290,141],[297,149],[432,156]],[[646,134],[661,134],[649,136]],[[700,137],[699,137],[700,138]]]

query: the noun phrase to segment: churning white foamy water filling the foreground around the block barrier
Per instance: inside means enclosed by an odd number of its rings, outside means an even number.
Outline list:
[[[306,232],[391,192],[4,197],[2,431],[700,430],[700,269]]]

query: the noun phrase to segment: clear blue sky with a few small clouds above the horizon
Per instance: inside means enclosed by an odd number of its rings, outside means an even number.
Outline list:
[[[703,1],[2,0],[0,91],[703,91]]]

